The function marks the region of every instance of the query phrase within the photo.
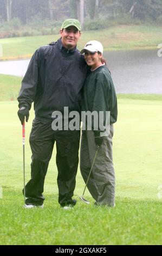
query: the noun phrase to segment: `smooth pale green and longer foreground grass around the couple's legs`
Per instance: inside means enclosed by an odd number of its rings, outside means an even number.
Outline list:
[[[87,190],[85,197],[90,205],[79,200],[85,184],[78,170],[74,193],[77,204],[72,211],[60,209],[54,148],[44,186],[44,209],[24,210],[22,131],[17,102],[0,102],[1,245],[161,245],[161,98],[145,95],[141,99],[136,95],[130,99],[120,95],[118,107],[113,139],[115,208],[95,208]],[[26,125],[26,180],[30,178],[28,138],[33,117],[31,111]]]

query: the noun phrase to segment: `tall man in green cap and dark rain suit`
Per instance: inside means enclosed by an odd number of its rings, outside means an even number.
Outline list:
[[[44,179],[55,142],[59,203],[64,209],[71,209],[76,204],[72,197],[79,161],[80,131],[63,127],[54,131],[51,115],[54,111],[60,111],[63,115],[64,107],[68,107],[69,112],[81,110],[86,63],[76,49],[81,36],[80,22],[65,20],[60,34],[59,40],[36,50],[18,96],[18,117],[22,124],[24,119],[28,121],[32,102],[35,109],[29,139],[32,151],[31,179],[25,186],[25,208],[43,207]]]

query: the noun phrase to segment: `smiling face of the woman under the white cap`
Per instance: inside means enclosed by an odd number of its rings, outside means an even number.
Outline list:
[[[85,51],[85,60],[87,62],[87,65],[91,66],[92,69],[95,69],[101,65],[101,57],[102,57],[101,53],[98,53],[98,52],[92,53],[89,51]]]

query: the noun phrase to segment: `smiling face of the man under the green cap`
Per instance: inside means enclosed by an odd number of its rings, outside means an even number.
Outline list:
[[[74,26],[61,29],[60,34],[63,46],[68,49],[74,48],[81,36],[81,32]]]

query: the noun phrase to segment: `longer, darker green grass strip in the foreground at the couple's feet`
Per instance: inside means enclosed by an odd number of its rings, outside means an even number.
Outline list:
[[[118,197],[116,208],[77,203],[65,211],[47,194],[44,209],[23,209],[19,191],[4,190],[1,245],[161,245],[161,204]]]

